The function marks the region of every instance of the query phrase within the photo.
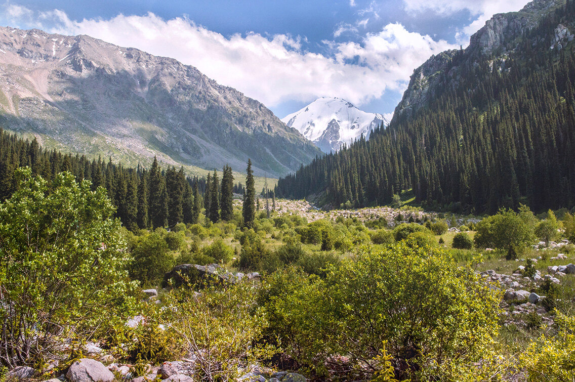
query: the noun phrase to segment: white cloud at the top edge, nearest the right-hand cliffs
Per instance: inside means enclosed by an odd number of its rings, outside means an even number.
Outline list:
[[[404,0],[408,11],[435,11],[448,16],[458,11],[467,10],[473,17],[469,25],[459,30],[457,39],[468,43],[471,34],[477,32],[496,13],[518,11],[531,0]]]

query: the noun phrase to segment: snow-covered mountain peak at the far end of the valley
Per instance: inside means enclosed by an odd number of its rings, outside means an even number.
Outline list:
[[[282,121],[298,130],[323,152],[338,151],[345,143],[361,137],[367,139],[371,131],[388,121],[381,114],[366,113],[341,98],[318,98]]]

